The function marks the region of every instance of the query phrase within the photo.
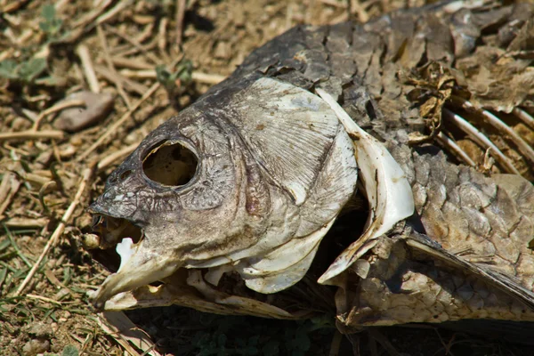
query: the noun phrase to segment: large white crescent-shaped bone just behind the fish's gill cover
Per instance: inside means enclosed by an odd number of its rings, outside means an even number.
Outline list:
[[[320,277],[319,283],[328,284],[328,279],[345,271],[365,254],[373,246],[373,240],[413,214],[415,203],[404,171],[384,145],[356,125],[330,94],[320,88],[316,91],[336,112],[345,130],[352,136],[356,162],[360,168],[360,176],[369,203],[366,230],[360,239],[347,247]]]

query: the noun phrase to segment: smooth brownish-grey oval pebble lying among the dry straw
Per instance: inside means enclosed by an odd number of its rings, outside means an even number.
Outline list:
[[[78,92],[70,94],[63,101],[79,100],[85,101],[85,108],[61,110],[60,116],[53,122],[54,128],[74,133],[96,124],[113,109],[115,96],[110,93]]]

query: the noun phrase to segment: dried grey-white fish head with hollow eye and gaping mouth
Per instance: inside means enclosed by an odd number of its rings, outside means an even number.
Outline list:
[[[225,265],[256,291],[290,287],[356,180],[352,142],[314,94],[263,78],[209,95],[150,133],[90,206],[101,247],[121,256],[94,303],[180,268]]]

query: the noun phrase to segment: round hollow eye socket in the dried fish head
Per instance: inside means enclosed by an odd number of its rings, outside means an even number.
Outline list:
[[[168,186],[187,184],[197,167],[197,156],[178,142],[159,144],[142,162],[142,170],[151,181]]]

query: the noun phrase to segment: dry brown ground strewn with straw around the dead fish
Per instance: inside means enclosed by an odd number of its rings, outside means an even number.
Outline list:
[[[0,0],[0,354],[528,354],[435,326],[344,337],[328,317],[95,312],[86,293],[109,272],[84,248],[86,207],[146,134],[296,24],[365,21],[424,2],[54,3]],[[86,116],[80,97],[69,97],[80,91],[101,93]]]

